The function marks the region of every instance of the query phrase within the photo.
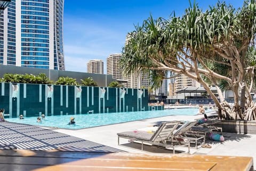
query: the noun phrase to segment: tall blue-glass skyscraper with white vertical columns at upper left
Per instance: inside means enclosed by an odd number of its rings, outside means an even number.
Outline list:
[[[12,0],[0,15],[0,64],[65,70],[62,17],[63,0]]]

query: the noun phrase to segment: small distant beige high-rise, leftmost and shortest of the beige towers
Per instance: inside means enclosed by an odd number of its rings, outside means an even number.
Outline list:
[[[94,59],[87,63],[87,72],[94,74],[103,74],[104,63],[103,60]]]

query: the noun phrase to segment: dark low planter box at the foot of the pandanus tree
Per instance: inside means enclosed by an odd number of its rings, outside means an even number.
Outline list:
[[[215,124],[222,127],[222,132],[238,134],[256,134],[256,121],[222,120]]]

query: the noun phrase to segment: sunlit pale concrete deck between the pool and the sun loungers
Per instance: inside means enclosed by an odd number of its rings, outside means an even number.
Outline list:
[[[189,110],[189,109],[188,109]],[[117,133],[124,131],[134,131],[136,129],[145,128],[148,126],[155,125],[159,121],[170,121],[170,120],[189,120],[203,116],[167,116],[161,118],[145,119],[132,121],[129,123],[114,124],[79,130],[68,130],[68,129],[57,129],[51,128],[53,131],[65,133],[68,135],[76,136],[84,140],[92,141],[107,145],[119,150],[124,150],[132,153],[172,153],[171,150],[157,149],[157,148],[146,148],[144,147],[141,151],[141,145],[137,143],[129,143],[127,139],[120,139],[120,144],[117,144]],[[191,149],[191,154],[206,154],[216,156],[246,156],[253,157],[253,164],[256,166],[256,148],[254,144],[256,142],[256,135],[250,134],[231,134],[223,133],[225,136],[224,142],[207,141],[212,148],[199,148]],[[184,153],[187,153],[187,148],[181,148]]]

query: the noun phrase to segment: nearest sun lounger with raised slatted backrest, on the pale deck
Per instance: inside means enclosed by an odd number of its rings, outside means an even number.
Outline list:
[[[130,131],[117,133],[118,135],[118,145],[119,138],[129,139],[141,143],[141,150],[143,151],[143,144],[161,146],[166,149],[172,148],[173,153],[175,153],[174,146],[188,146],[188,152],[190,151],[190,143],[186,141],[174,140],[174,130],[178,127],[180,121],[169,121],[163,122],[157,128],[155,133],[143,132],[143,131]]]

